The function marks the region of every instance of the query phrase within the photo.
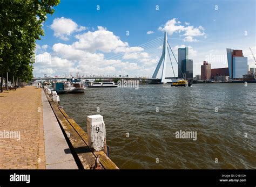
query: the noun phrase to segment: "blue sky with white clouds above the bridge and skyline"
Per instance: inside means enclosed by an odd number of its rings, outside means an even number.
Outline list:
[[[60,0],[36,41],[33,75],[151,77],[164,32],[176,59],[178,48],[188,47],[193,76],[204,60],[212,68],[227,67],[226,48],[242,49],[254,67],[249,47],[256,55],[255,5],[254,0]],[[173,70],[167,60],[166,75],[177,76],[170,56]]]

